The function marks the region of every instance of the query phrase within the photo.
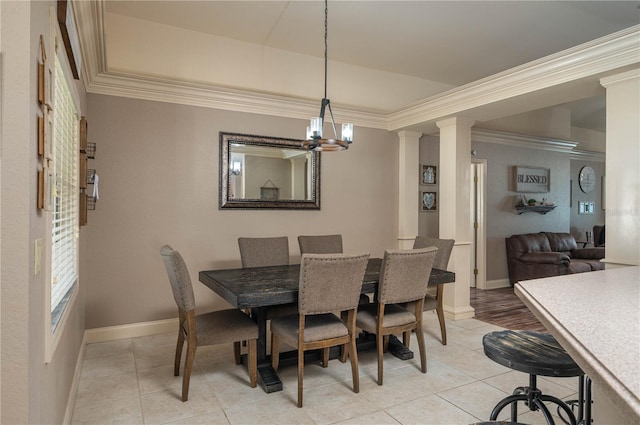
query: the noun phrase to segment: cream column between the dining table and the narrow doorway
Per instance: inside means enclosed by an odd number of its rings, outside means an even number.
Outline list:
[[[438,191],[439,237],[454,239],[450,269],[453,285],[445,285],[444,311],[453,320],[474,316],[470,304],[471,262],[471,126],[473,120],[449,118],[436,122],[440,128]]]

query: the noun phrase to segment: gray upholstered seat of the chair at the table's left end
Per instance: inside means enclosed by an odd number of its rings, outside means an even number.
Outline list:
[[[186,326],[184,324],[183,326]],[[240,310],[212,311],[196,316],[198,345],[224,344],[258,338],[256,322]]]

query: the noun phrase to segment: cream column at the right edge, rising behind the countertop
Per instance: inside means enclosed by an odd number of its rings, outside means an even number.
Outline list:
[[[600,80],[607,89],[607,269],[640,264],[640,70]]]

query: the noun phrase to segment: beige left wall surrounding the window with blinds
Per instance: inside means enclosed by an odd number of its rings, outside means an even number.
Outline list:
[[[68,311],[58,349],[45,364],[47,282],[42,271],[35,274],[33,265],[34,240],[47,240],[48,219],[36,208],[36,82],[40,35],[45,41],[50,38],[49,12],[54,6],[53,1],[0,2],[3,424],[62,423],[84,334],[80,296]]]

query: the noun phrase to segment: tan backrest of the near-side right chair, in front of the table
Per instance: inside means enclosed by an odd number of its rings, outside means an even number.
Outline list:
[[[397,304],[424,298],[437,248],[388,249],[378,283],[378,300]]]

